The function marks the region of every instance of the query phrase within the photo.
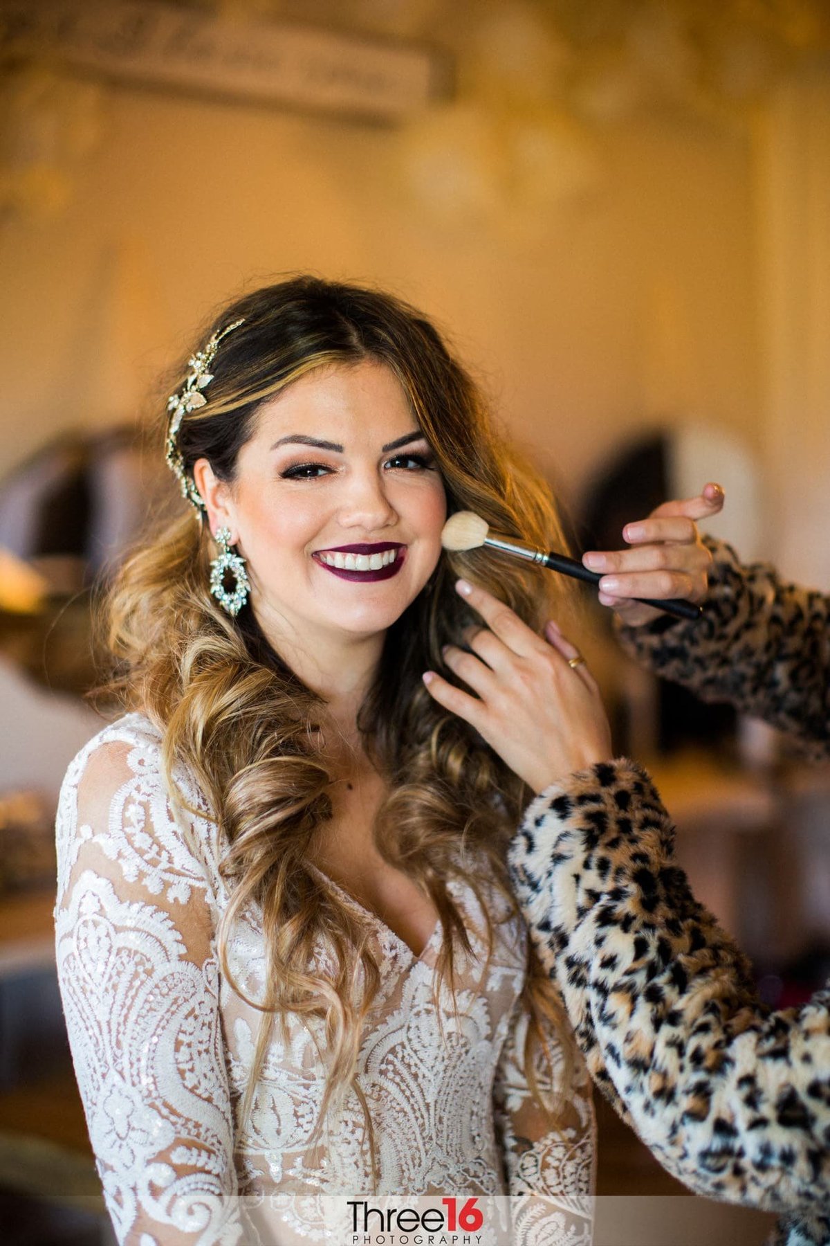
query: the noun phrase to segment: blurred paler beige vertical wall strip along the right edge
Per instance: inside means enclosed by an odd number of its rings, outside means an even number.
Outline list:
[[[783,83],[755,148],[763,455],[770,545],[830,584],[830,71]]]

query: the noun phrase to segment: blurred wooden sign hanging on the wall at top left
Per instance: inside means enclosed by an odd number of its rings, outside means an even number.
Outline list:
[[[403,40],[157,0],[1,0],[0,57],[31,56],[119,82],[386,122],[445,95],[449,81],[444,54]]]

